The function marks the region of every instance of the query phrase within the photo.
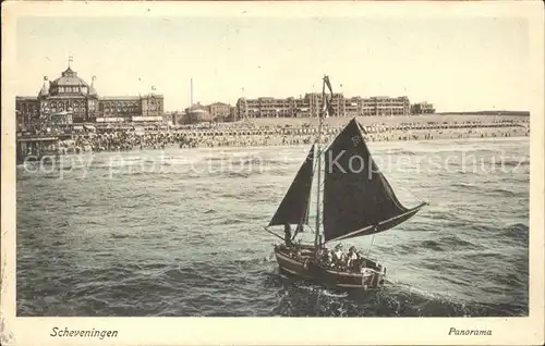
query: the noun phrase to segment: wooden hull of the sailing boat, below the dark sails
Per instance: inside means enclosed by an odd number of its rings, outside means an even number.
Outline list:
[[[295,258],[281,248],[275,249],[280,271],[292,276],[320,284],[334,289],[378,288],[384,284],[384,272],[368,270],[367,273],[336,271],[315,264],[311,258]]]

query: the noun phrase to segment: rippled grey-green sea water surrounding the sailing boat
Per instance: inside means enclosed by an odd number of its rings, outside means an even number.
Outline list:
[[[263,226],[306,146],[86,153],[17,168],[17,316],[528,316],[529,139],[368,147],[405,207],[429,202],[344,243],[384,289],[278,273]]]

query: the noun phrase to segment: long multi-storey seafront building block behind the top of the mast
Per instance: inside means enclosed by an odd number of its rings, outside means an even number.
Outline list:
[[[401,97],[352,97],[334,94],[330,116],[373,116],[373,115],[409,115],[411,103],[407,96]],[[298,99],[293,97],[277,99],[261,97],[257,99],[240,98],[237,101],[234,115],[246,118],[315,118],[322,112],[320,92],[305,94]]]

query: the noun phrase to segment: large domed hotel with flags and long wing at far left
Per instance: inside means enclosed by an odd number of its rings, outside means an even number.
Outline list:
[[[37,97],[16,97],[17,125],[33,129],[48,123],[156,123],[162,121],[164,97],[145,96],[99,97],[90,85],[77,76],[70,65],[61,76],[44,85]]]

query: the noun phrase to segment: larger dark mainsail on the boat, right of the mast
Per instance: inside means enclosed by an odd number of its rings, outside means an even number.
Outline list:
[[[325,240],[389,230],[422,207],[407,209],[380,173],[353,119],[325,152]]]

